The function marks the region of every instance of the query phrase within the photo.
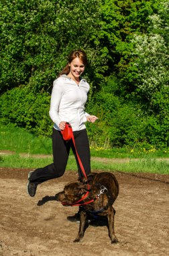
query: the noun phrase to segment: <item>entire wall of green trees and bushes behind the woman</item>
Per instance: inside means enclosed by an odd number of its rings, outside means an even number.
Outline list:
[[[166,0],[1,1],[3,121],[50,136],[52,82],[77,48],[89,57],[87,112],[99,117],[91,145],[166,148]]]

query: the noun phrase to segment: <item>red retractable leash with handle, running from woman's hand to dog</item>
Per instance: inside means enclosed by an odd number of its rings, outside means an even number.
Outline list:
[[[80,156],[78,156],[78,152],[76,150],[76,144],[75,144],[75,141],[74,141],[74,135],[73,135],[73,131],[72,131],[72,127],[71,127],[70,123],[66,123],[65,124],[65,128],[64,128],[63,131],[61,131],[61,133],[62,133],[62,136],[63,136],[64,140],[67,141],[67,140],[72,139],[73,144],[74,144],[74,148],[75,148],[75,151],[76,151],[76,156],[78,158],[78,163],[79,163],[80,168],[82,170],[82,174],[83,174],[84,178],[87,179],[87,174],[86,174],[86,172],[84,170],[84,167],[82,166],[82,162],[80,160]],[[88,182],[88,180],[87,180],[87,182]],[[89,185],[89,183],[87,184],[87,186],[88,186],[88,189],[90,189],[91,186]],[[88,195],[89,195],[89,191],[87,191],[87,193],[84,195],[84,197],[82,197],[78,201],[76,201],[74,203],[62,203],[62,205],[80,206],[80,205],[84,205],[84,204],[93,202],[94,199],[92,199],[91,201],[85,202],[85,203],[79,203],[80,201],[82,201],[85,198],[87,198]]]

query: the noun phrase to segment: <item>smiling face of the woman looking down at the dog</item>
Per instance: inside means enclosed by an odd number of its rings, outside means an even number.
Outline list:
[[[76,57],[72,60],[71,63],[69,63],[70,66],[70,73],[68,74],[72,79],[79,80],[80,75],[84,72],[84,64],[82,61]]]

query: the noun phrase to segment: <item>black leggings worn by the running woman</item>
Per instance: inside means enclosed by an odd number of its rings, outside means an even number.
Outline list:
[[[86,174],[89,174],[91,172],[91,154],[89,148],[89,139],[87,137],[87,130],[83,129],[81,131],[74,131],[73,134],[76,150]],[[36,183],[38,185],[44,181],[61,177],[66,169],[70,148],[72,148],[72,152],[76,158],[76,152],[72,139],[70,141],[64,141],[60,131],[53,129],[52,150],[54,162],[48,166],[45,166],[44,168],[36,169],[30,177],[30,182]],[[78,166],[78,176],[81,178],[83,177],[83,174],[78,164],[77,158],[76,163]]]

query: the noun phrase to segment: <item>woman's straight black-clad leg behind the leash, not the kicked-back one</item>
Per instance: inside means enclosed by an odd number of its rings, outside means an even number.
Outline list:
[[[91,152],[90,152],[90,147],[89,147],[89,139],[87,136],[87,130],[83,129],[81,131],[74,131],[74,141],[75,141],[75,145],[76,145],[76,150],[78,152],[78,156],[80,157],[80,160],[82,162],[82,166],[84,167],[86,174],[89,174],[91,172]],[[76,157],[76,152],[75,152],[74,145],[73,145],[72,141],[71,141],[71,148],[72,148],[72,151],[76,158],[76,163],[78,166],[78,176],[79,176],[79,178],[82,178],[82,177],[84,177],[84,175],[82,174],[82,170],[78,163],[78,159]]]

